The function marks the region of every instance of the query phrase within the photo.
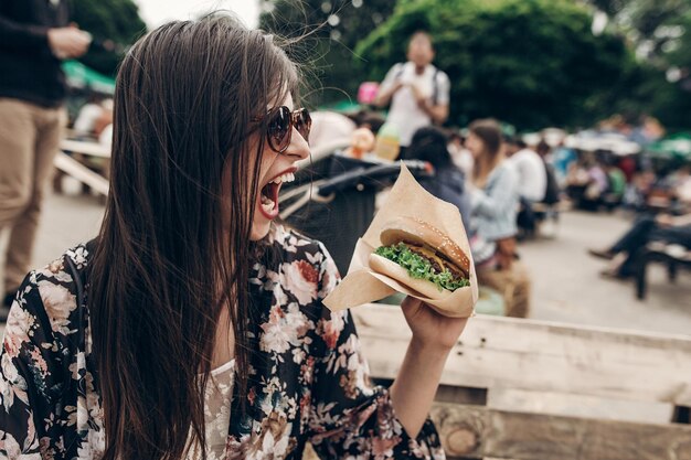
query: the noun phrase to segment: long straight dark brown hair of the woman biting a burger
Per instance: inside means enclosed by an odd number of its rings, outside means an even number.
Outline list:
[[[264,136],[253,119],[297,81],[270,36],[227,15],[162,25],[125,57],[88,289],[105,459],[181,459],[190,429],[205,445],[201,388],[223,309],[246,393],[264,143],[254,151],[249,135]]]

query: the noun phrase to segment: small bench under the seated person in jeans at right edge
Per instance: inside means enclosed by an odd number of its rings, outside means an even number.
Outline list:
[[[681,245],[669,245],[662,242],[652,242],[636,256],[636,297],[645,299],[647,293],[647,272],[650,263],[667,265],[670,282],[677,280],[677,268],[691,269],[691,250]]]

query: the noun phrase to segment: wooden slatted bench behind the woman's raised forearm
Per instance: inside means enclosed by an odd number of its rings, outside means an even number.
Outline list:
[[[403,313],[372,304],[353,315],[372,376],[392,381],[410,341]],[[432,417],[450,459],[689,460],[689,406],[691,336],[478,315]]]

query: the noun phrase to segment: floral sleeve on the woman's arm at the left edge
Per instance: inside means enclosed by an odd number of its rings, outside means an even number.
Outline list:
[[[36,272],[19,288],[0,354],[0,458],[40,460],[41,438],[54,419],[51,395],[57,344],[40,293]]]

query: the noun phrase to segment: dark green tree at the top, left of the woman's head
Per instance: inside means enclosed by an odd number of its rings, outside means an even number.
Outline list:
[[[72,21],[94,36],[82,61],[105,74],[115,75],[127,47],[146,32],[132,0],[72,0]]]

